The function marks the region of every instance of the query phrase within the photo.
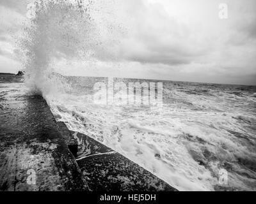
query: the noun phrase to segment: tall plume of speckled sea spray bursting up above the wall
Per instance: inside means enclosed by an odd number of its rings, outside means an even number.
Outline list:
[[[52,59],[61,55],[74,57],[79,51],[78,33],[86,26],[72,24],[89,24],[90,18],[81,4],[71,1],[38,0],[29,4],[28,9],[30,20],[21,43],[26,82],[35,92],[43,94],[58,85],[49,77]]]

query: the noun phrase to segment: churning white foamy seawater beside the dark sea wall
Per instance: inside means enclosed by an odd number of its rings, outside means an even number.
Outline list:
[[[95,105],[88,90],[46,98],[68,128],[104,143],[181,191],[255,189],[252,93],[232,91],[232,86],[180,85],[164,82],[163,109]],[[228,171],[225,186],[219,184],[222,169]]]

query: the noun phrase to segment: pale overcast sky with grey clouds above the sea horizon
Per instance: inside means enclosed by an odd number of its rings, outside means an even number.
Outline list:
[[[0,0],[0,72],[22,69],[15,54],[31,1]],[[227,5],[225,18],[220,4]],[[256,85],[255,0],[123,0],[111,1],[108,9],[115,19],[108,22],[122,25],[122,34],[114,35],[118,43],[97,49],[97,62],[70,61],[65,53],[55,61],[56,71]]]

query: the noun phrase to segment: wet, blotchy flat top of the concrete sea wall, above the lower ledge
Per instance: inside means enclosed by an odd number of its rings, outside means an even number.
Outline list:
[[[47,103],[0,84],[0,191],[86,191]]]

